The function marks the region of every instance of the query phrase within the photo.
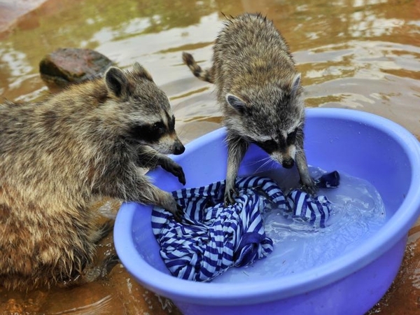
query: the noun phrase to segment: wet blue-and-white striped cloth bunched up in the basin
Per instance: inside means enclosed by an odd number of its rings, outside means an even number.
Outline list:
[[[272,179],[249,176],[237,179],[236,203],[223,205],[225,181],[172,194],[183,207],[181,223],[160,207],[152,212],[152,228],[160,255],[169,271],[181,279],[209,281],[229,267],[244,266],[273,251],[265,236],[261,214],[283,209],[286,218],[302,218],[323,228],[330,202],[300,190],[284,195]]]

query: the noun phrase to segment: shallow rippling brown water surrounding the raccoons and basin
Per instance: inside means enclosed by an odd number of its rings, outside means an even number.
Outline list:
[[[140,62],[169,95],[184,143],[221,126],[213,87],[191,75],[181,52],[209,65],[223,15],[261,12],[288,40],[307,106],[376,113],[420,139],[420,1],[0,0],[0,97],[48,93],[38,63],[59,47],[92,48],[119,66]],[[118,207],[114,207],[118,208]],[[420,314],[420,221],[400,273],[372,314]],[[112,235],[100,254],[113,251]],[[28,293],[0,289],[4,314],[180,314],[135,283],[123,266],[108,280]]]

